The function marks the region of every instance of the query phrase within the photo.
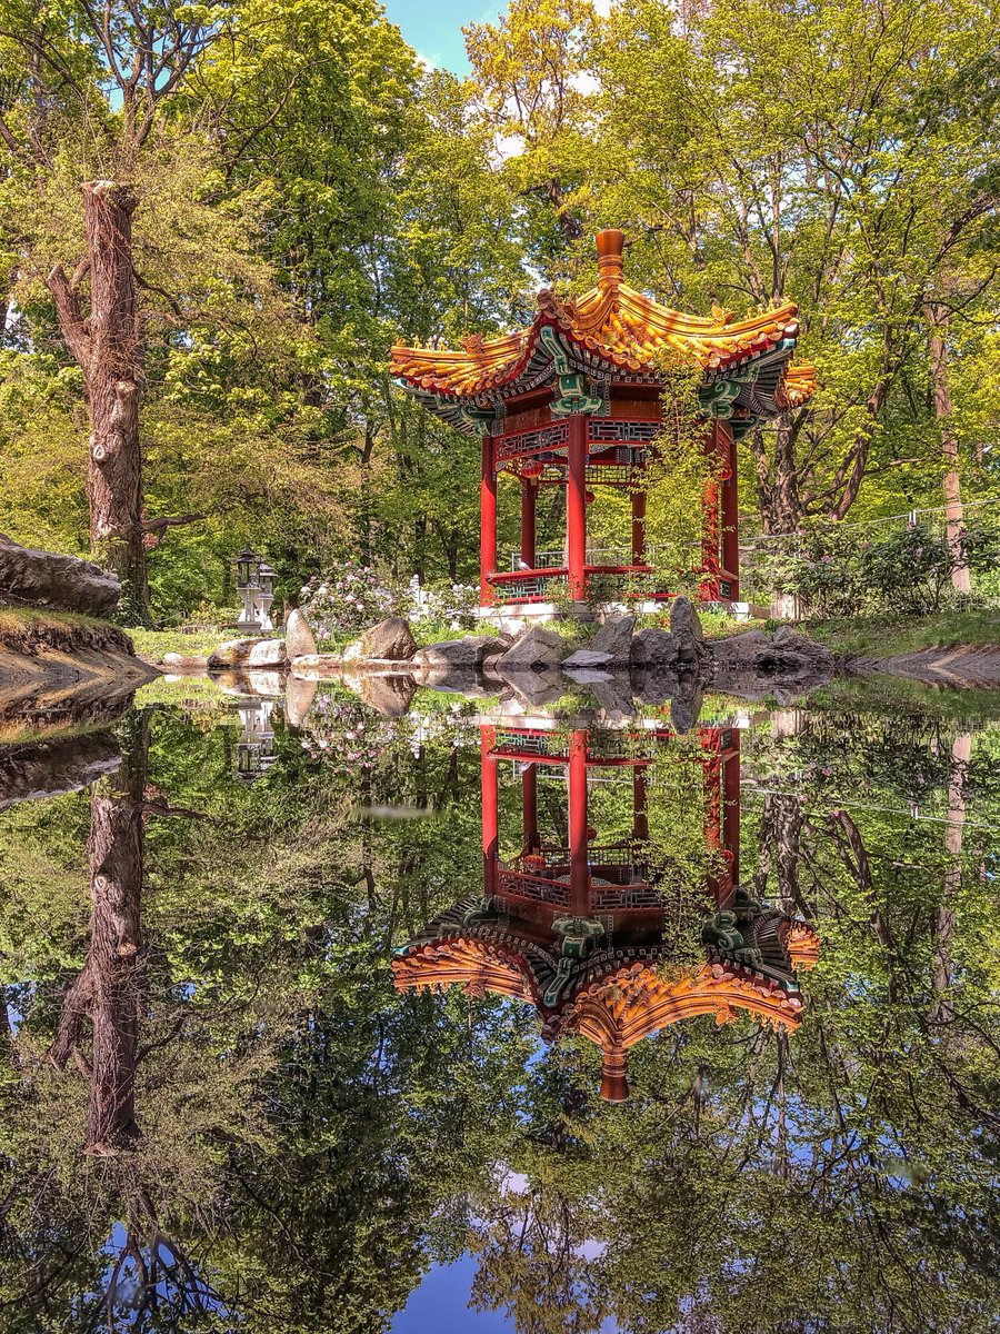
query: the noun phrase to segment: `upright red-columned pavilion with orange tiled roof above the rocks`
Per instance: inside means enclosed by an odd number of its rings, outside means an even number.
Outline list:
[[[647,563],[647,464],[661,430],[664,358],[700,366],[705,450],[719,459],[719,483],[704,496],[703,600],[739,600],[736,444],[755,424],[804,403],[816,388],[811,366],[792,366],[797,305],[785,303],[736,320],[717,307],[711,319],[681,315],[623,280],[624,235],[597,233],[597,285],[576,300],[552,291],[537,297],[528,328],[500,338],[476,334],[460,351],[392,350],[392,375],[432,412],[483,436],[480,483],[480,602],[545,602],[568,584],[587,599],[592,575],[619,576],[651,598]],[[497,568],[497,474],[520,482],[521,548],[509,571]],[[536,551],[543,487],[565,488],[565,547]],[[632,498],[631,550],[595,563],[587,550],[587,504],[593,487]]]

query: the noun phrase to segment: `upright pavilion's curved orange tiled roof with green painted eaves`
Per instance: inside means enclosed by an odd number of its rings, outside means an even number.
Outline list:
[[[811,398],[813,367],[791,364],[799,336],[795,303],[744,320],[719,307],[711,317],[684,315],[624,281],[623,249],[623,232],[599,232],[599,277],[589,292],[561,299],[544,289],[528,328],[492,339],[473,334],[457,351],[397,344],[391,374],[425,407],[471,434],[503,416],[507,400],[555,386],[561,376],[584,376],[591,395],[560,410],[557,390],[556,415],[607,410],[612,383],[660,383],[671,352],[703,368],[705,414],[732,418],[737,435]]]

